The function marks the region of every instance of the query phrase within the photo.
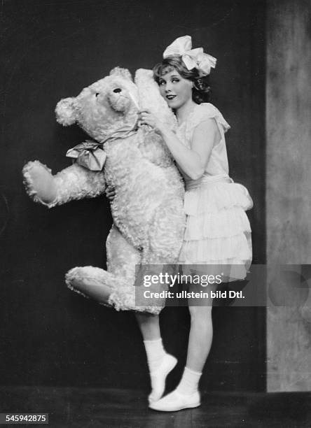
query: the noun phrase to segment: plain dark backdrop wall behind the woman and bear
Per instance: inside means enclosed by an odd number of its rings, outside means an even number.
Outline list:
[[[4,0],[1,52],[2,385],[148,387],[132,313],[116,313],[69,292],[73,266],[105,266],[111,227],[104,197],[48,211],[25,194],[21,170],[40,159],[54,172],[85,137],[55,122],[61,98],[76,95],[113,66],[151,68],[174,38],[190,34],[218,58],[212,102],[232,129],[230,175],[254,198],[254,262],[265,259],[264,3],[245,1]],[[265,387],[265,314],[214,308],[214,343],[202,386]],[[163,337],[186,358],[187,308],[165,308]]]

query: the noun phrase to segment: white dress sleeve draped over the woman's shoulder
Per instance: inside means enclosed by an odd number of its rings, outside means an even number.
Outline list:
[[[187,129],[188,138],[191,138],[193,130],[198,126],[198,124],[210,118],[216,120],[217,127],[221,133],[221,138],[223,138],[223,134],[230,129],[230,125],[223,118],[223,115],[218,108],[210,103],[202,103],[195,108],[193,115],[189,118],[190,120]]]

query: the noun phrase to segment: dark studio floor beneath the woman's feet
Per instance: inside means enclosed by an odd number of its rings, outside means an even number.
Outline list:
[[[48,413],[49,424],[41,426],[53,428],[304,428],[311,427],[311,392],[203,392],[199,408],[161,413],[149,410],[146,393],[136,390],[1,387],[5,412]]]

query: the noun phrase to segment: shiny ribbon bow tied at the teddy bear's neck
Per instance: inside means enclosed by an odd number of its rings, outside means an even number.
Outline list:
[[[102,149],[102,143],[90,140],[75,145],[67,151],[66,156],[76,159],[77,164],[90,169],[90,171],[102,171],[107,157]]]

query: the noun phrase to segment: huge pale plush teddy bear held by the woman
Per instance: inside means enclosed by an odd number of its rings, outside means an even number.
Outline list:
[[[55,109],[57,122],[77,123],[94,141],[69,150],[76,161],[55,176],[39,161],[28,162],[23,175],[29,196],[49,208],[97,197],[106,185],[115,188],[107,271],[76,267],[66,283],[116,310],[159,313],[163,300],[137,304],[135,275],[141,264],[177,263],[185,226],[184,185],[162,138],[139,125],[138,113],[148,109],[172,129],[175,117],[151,71],[137,70],[134,82],[129,71],[117,67],[78,97],[62,99]]]

